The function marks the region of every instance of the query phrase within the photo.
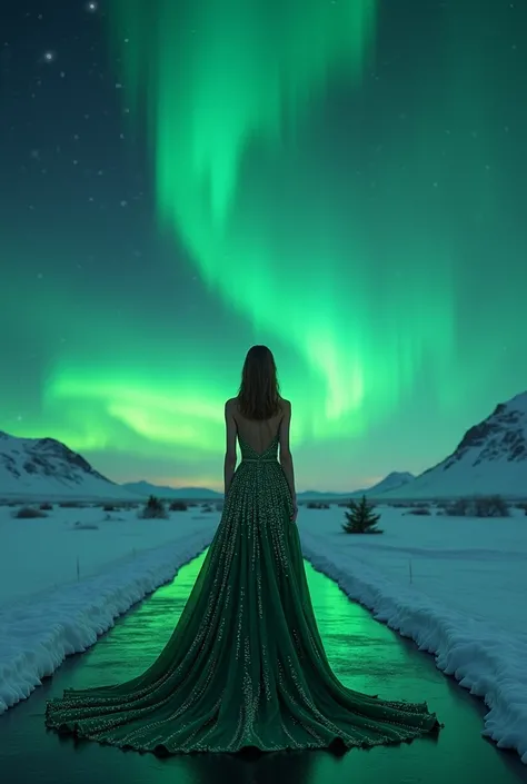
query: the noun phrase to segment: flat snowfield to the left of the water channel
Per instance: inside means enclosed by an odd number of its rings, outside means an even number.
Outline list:
[[[59,508],[28,520],[10,513],[0,507],[0,714],[170,582],[210,544],[219,518],[187,512],[138,520],[127,512],[105,520],[101,509]],[[99,528],[78,529],[79,518]]]

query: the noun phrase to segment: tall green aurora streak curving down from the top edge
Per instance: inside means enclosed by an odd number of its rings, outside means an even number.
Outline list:
[[[113,9],[128,97],[148,113],[160,224],[209,288],[318,376],[312,436],[367,428],[424,354],[439,371],[453,343],[448,247],[431,258],[424,227],[379,277],[352,186],[331,192],[324,157],[302,143],[328,81],[359,85],[377,0]]]

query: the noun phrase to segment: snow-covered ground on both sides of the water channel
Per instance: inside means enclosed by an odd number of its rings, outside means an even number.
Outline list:
[[[339,507],[301,508],[305,556],[484,697],[484,734],[527,764],[527,516],[379,510],[385,534],[365,537],[341,532]],[[169,520],[138,520],[136,510],[105,520],[99,508],[56,508],[36,520],[11,512],[0,507],[0,713],[171,579],[219,522],[197,508]]]

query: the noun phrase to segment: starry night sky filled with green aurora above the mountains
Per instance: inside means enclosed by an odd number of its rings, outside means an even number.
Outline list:
[[[527,388],[527,4],[0,8],[0,429],[222,487],[253,343],[297,487],[421,472]]]

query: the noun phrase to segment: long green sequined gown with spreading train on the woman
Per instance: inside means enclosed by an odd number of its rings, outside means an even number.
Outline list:
[[[426,703],[385,702],[337,679],[278,437],[261,455],[240,447],[221,522],[165,649],[127,683],[48,701],[47,726],[162,754],[368,747],[437,731]]]

